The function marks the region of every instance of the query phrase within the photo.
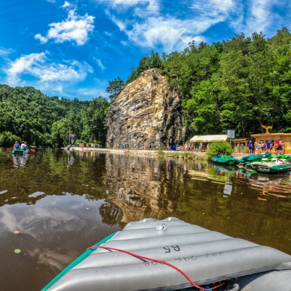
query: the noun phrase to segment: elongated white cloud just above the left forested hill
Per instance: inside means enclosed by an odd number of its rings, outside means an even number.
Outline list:
[[[23,84],[20,76],[28,74],[38,79],[39,85],[43,87],[53,83],[56,87],[59,84],[60,88],[60,84],[64,81],[82,81],[88,72],[93,72],[90,65],[77,61],[64,61],[65,64],[50,62],[47,54],[48,52],[21,55],[15,61],[10,61],[6,70],[8,83],[10,85]]]

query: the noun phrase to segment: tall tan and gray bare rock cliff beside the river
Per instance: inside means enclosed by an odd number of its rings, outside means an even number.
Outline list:
[[[163,148],[181,145],[185,139],[181,101],[169,92],[166,77],[149,69],[128,84],[107,114],[107,147],[127,143],[132,148],[151,144]]]

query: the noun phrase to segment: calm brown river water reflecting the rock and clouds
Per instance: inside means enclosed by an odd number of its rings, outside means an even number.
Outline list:
[[[1,290],[39,291],[87,247],[148,217],[175,216],[291,254],[290,177],[198,161],[0,149]]]

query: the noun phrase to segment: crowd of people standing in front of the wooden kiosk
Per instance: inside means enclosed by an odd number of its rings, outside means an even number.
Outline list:
[[[272,153],[273,148],[275,148],[275,154],[276,155],[283,155],[285,151],[285,142],[281,140],[276,140],[275,142],[273,141],[260,141],[258,140],[255,141],[253,144],[252,141],[248,142],[248,148],[249,148],[249,153],[255,153],[257,152],[258,154],[269,152]],[[243,153],[244,146],[243,144],[238,143],[237,144],[237,152],[238,153]]]

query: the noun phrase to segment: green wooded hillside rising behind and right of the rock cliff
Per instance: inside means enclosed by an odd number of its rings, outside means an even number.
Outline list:
[[[193,41],[182,52],[161,57],[152,52],[132,68],[127,81],[111,81],[108,92],[118,93],[121,85],[152,67],[161,68],[170,89],[180,91],[189,136],[236,129],[237,136],[247,137],[261,132],[261,125],[273,126],[273,132],[291,131],[291,33],[287,28],[270,39],[262,33],[251,37],[242,33],[221,43]]]

